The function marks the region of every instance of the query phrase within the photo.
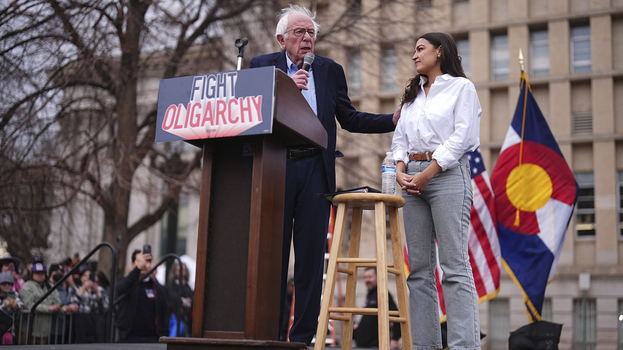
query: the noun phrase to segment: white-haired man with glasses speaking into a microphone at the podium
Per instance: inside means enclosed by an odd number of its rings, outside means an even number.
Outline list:
[[[280,307],[283,308],[285,303],[290,241],[293,240],[296,298],[290,341],[310,344],[320,313],[330,214],[330,202],[318,198],[317,194],[335,191],[335,158],[343,156],[335,149],[335,120],[340,122],[341,128],[353,133],[388,133],[394,131],[400,110],[393,115],[355,110],[347,95],[341,65],[326,57],[315,56],[309,71],[302,69],[305,55],[313,53],[320,28],[315,21],[316,14],[305,7],[290,5],[282,9],[278,17],[275,37],[283,50],[254,57],[250,67],[273,65],[288,73],[320,119],[328,137],[325,150],[303,146],[287,151]],[[283,318],[281,311],[280,317]],[[280,319],[280,326],[283,321]]]

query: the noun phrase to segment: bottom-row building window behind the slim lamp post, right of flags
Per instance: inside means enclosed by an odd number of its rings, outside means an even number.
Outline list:
[[[573,300],[573,349],[594,350],[597,346],[596,301],[586,299],[586,309],[582,299]],[[585,312],[586,310],[586,312]],[[586,334],[586,348],[584,348]]]

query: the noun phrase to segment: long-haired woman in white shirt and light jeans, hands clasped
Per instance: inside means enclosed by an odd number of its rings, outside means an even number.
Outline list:
[[[402,96],[392,140],[396,181],[407,201],[403,213],[413,348],[441,349],[436,241],[449,348],[480,349],[478,293],[467,253],[473,197],[465,153],[480,144],[482,109],[449,35],[422,35],[413,60],[418,74]]]

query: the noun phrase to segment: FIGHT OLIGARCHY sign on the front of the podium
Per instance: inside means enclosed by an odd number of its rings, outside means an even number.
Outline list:
[[[160,80],[156,142],[272,132],[275,68]]]

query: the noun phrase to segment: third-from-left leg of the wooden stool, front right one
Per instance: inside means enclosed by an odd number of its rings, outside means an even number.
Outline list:
[[[388,259],[385,229],[385,202],[374,203],[376,224],[376,281],[379,310],[379,350],[389,350]]]

